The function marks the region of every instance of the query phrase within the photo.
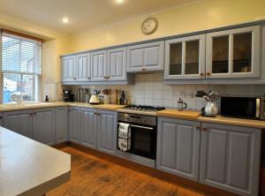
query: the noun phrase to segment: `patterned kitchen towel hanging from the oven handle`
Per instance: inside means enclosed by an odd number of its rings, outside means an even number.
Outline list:
[[[119,123],[118,126],[118,141],[119,150],[126,152],[131,148],[131,125]]]

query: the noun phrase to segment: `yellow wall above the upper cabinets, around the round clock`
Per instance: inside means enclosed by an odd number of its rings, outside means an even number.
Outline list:
[[[159,27],[155,34],[144,35],[140,26],[143,19],[102,28],[71,37],[71,51],[97,49],[111,45],[143,41],[174,34],[185,34],[218,26],[229,26],[265,17],[264,0],[208,0],[176,7],[154,15]],[[265,18],[264,18],[265,19]]]

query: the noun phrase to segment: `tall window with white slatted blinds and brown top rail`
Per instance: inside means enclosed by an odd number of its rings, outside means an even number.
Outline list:
[[[42,41],[2,30],[2,102],[38,102],[42,97]]]

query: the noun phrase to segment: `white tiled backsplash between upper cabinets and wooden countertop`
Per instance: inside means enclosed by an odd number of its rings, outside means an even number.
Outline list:
[[[90,89],[122,89],[132,104],[164,106],[176,108],[182,98],[188,109],[201,109],[205,106],[203,98],[195,97],[198,90],[214,90],[226,95],[261,96],[265,94],[265,85],[165,85],[163,73],[136,74],[135,85],[130,86],[83,86]]]

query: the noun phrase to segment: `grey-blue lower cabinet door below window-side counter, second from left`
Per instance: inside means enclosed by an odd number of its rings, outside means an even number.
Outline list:
[[[55,143],[55,109],[34,109],[33,139],[43,144]]]

